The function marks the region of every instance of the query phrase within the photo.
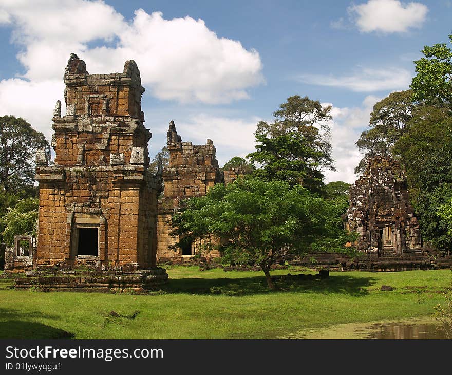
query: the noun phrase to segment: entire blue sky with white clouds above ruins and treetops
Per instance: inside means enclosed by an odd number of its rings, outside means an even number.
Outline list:
[[[353,182],[355,142],[373,104],[408,89],[424,45],[446,43],[452,2],[0,1],[0,116],[50,139],[71,52],[89,73],[133,59],[146,88],[149,152],[174,120],[184,141],[211,138],[220,165],[254,150],[259,120],[291,95],[333,106],[326,181]],[[63,108],[64,111],[64,108]]]

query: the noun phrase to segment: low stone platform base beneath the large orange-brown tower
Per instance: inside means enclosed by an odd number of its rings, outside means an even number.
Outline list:
[[[165,284],[168,274],[163,268],[124,271],[29,271],[15,278],[14,288],[43,291],[133,292],[147,293]]]

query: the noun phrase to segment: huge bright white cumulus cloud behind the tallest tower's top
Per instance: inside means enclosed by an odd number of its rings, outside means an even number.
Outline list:
[[[0,106],[0,115],[34,117],[39,130],[46,129],[50,117],[14,103],[28,97],[43,105],[61,100],[71,52],[85,60],[91,74],[121,72],[126,60],[135,60],[147,92],[163,100],[229,103],[248,98],[247,89],[263,83],[256,50],[219,37],[204,21],[189,16],[165,20],[161,12],[138,9],[132,20],[125,20],[100,0],[35,0],[33,6],[3,0],[0,23],[12,27],[12,41],[21,48],[17,58],[26,68],[23,76],[0,81],[0,97],[11,97]],[[39,99],[34,97],[37,87],[45,87]]]

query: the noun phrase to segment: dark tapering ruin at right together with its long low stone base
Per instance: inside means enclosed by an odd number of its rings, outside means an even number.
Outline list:
[[[452,265],[452,256],[440,254],[424,243],[409,202],[403,168],[391,157],[369,158],[366,170],[351,186],[349,197],[344,225],[359,235],[356,243],[349,244],[357,247],[359,256],[311,253],[291,264],[369,271],[448,268]]]

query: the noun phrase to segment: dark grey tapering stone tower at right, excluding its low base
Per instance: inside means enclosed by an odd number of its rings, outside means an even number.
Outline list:
[[[359,233],[358,249],[379,255],[422,252],[422,238],[409,202],[404,171],[389,156],[368,160],[350,188],[349,229]]]

